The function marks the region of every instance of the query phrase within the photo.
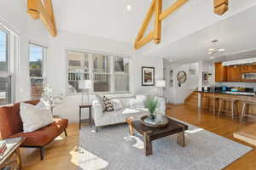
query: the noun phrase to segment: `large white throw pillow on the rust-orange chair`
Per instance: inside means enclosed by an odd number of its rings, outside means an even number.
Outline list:
[[[20,117],[24,133],[30,133],[54,122],[51,111],[40,106],[20,103]]]

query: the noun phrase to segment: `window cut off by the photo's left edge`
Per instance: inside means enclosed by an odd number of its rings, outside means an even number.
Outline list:
[[[0,26],[0,105],[11,103],[9,72],[9,33]]]

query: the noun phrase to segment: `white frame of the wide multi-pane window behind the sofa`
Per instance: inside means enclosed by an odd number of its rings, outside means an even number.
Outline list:
[[[68,68],[69,68],[69,60],[68,60],[68,52],[77,52],[77,53],[84,53],[84,54],[89,54],[89,58],[88,58],[88,62],[89,62],[89,80],[92,81],[92,85],[93,88],[90,89],[90,93],[93,94],[131,94],[131,57],[127,54],[112,54],[112,53],[108,53],[108,52],[100,52],[100,51],[91,51],[91,50],[83,50],[83,49],[76,49],[76,48],[66,48],[66,94],[67,95],[76,95],[76,94],[83,94],[83,92],[77,92],[77,93],[68,93]],[[111,87],[110,86],[110,90],[106,91],[106,92],[95,92],[94,91],[94,76],[98,73],[94,73],[93,69],[94,69],[94,63],[93,63],[93,59],[91,54],[102,54],[102,55],[106,55],[107,57],[110,57],[110,71],[109,73],[106,73],[106,75],[110,76],[110,85],[114,86],[115,84],[115,75],[124,75],[122,71],[114,71],[114,64],[113,64],[113,59],[115,57],[122,57],[122,58],[126,58],[129,59],[129,73],[127,73],[126,75],[128,75],[129,77],[129,90],[128,91],[115,91],[115,87]],[[102,73],[103,74],[103,73]],[[105,73],[104,73],[105,74]]]

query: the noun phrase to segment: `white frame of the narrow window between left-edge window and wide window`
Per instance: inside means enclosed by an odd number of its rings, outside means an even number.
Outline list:
[[[43,59],[42,59],[42,77],[31,77],[30,76],[30,45],[34,45],[34,46],[38,46],[38,47],[41,47],[43,48]],[[46,81],[46,58],[47,58],[47,53],[48,53],[48,47],[40,42],[33,42],[33,41],[29,41],[28,42],[28,65],[29,65],[29,79],[30,79],[30,86],[32,85],[31,81],[32,81],[32,78],[34,79],[43,79],[43,88],[44,88],[44,83]],[[32,86],[30,87],[30,97],[32,98]]]

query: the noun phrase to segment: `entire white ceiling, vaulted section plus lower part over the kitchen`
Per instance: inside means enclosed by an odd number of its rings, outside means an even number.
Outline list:
[[[164,8],[175,0],[164,0]],[[53,0],[60,30],[133,43],[151,0]],[[131,4],[131,12],[126,5]],[[138,50],[154,57],[192,62],[208,59],[211,40],[234,54],[256,48],[256,1],[230,0],[223,16],[213,13],[213,0],[190,0],[163,21],[162,42]],[[150,26],[149,26],[150,29]],[[216,56],[218,57],[218,56]]]

